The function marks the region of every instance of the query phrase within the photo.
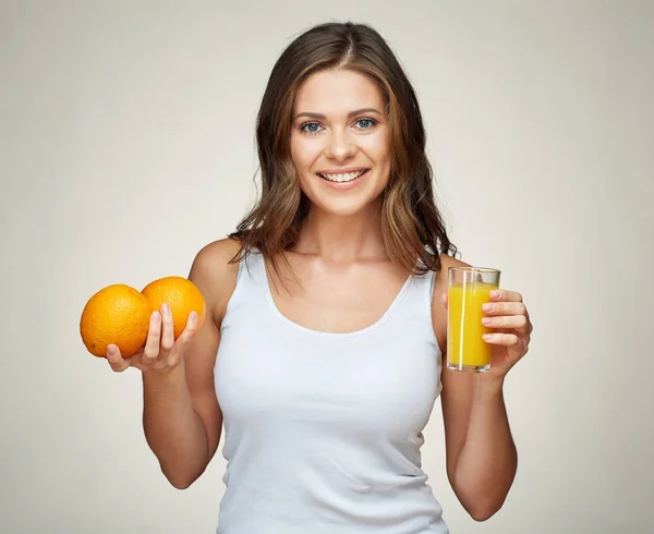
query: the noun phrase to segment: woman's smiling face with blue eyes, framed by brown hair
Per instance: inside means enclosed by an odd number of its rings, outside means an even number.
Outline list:
[[[377,201],[391,168],[384,110],[377,86],[354,71],[316,72],[299,87],[291,156],[314,208],[351,216]]]

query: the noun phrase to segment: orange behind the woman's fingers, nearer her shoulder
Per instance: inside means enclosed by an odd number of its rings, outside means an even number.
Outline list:
[[[141,292],[147,298],[153,310],[159,310],[164,303],[170,306],[174,339],[179,338],[186,327],[191,312],[197,313],[197,328],[202,326],[206,304],[202,292],[191,280],[174,276],[159,278],[148,283]]]

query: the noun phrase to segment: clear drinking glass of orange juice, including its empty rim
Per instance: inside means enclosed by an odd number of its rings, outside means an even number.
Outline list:
[[[484,373],[491,368],[492,345],[484,341],[491,328],[482,324],[482,305],[499,288],[497,269],[450,267],[448,269],[447,368]]]

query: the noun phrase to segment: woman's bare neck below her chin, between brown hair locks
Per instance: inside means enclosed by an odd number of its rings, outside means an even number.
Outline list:
[[[351,216],[339,216],[312,206],[303,222],[296,251],[316,254],[330,264],[386,257],[382,235],[382,204]]]

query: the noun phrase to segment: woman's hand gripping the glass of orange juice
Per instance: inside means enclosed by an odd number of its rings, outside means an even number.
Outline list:
[[[526,354],[533,326],[522,295],[516,291],[491,291],[491,302],[482,307],[484,326],[493,331],[484,341],[493,345],[491,368],[484,377],[504,378],[509,369]]]

